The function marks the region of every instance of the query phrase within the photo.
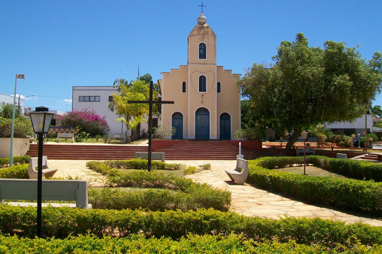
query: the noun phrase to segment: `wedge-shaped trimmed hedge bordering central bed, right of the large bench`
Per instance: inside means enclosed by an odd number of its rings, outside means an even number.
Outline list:
[[[227,211],[231,204],[230,192],[196,183],[191,179],[143,170],[121,173],[99,162],[89,162],[87,166],[107,175],[107,184],[111,186],[163,188],[131,192],[108,188],[92,189],[89,190],[89,203],[93,204],[94,208],[138,209],[141,207],[152,211],[214,208]]]

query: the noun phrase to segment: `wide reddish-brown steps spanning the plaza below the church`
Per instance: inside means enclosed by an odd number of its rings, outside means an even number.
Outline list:
[[[44,144],[43,155],[50,160],[127,160],[135,152],[147,152],[147,146],[135,145],[78,145]],[[154,150],[164,152],[166,160],[236,160],[239,147],[225,141],[189,141]],[[37,157],[38,145],[31,144],[26,155]],[[263,148],[252,150],[242,148],[245,160],[261,156],[285,156],[284,149]]]

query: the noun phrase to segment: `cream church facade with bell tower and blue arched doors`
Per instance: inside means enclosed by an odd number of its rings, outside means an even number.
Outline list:
[[[201,13],[188,35],[187,65],[162,72],[161,125],[172,139],[231,140],[240,129],[240,74],[216,65],[216,35]]]

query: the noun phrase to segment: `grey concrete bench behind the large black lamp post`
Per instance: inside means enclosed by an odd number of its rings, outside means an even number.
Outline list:
[[[37,180],[0,178],[0,200],[37,200]],[[52,203],[52,206],[67,206],[91,209],[88,204],[88,185],[85,180],[42,180],[42,200],[75,201],[75,204]],[[37,203],[7,202],[9,205],[37,206]],[[47,206],[44,203],[43,206]]]

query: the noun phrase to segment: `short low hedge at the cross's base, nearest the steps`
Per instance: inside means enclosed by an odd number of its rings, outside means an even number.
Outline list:
[[[147,169],[148,161],[141,158],[132,160],[118,160],[118,161],[105,161],[107,166],[116,169]],[[164,163],[152,161],[151,167],[157,170],[180,170],[185,168],[183,164],[178,163]]]

